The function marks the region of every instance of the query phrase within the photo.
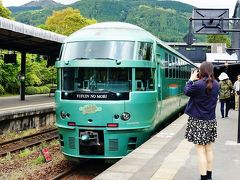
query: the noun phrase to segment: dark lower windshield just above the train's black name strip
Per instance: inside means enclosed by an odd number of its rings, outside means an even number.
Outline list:
[[[131,68],[63,68],[62,89],[78,92],[131,91]]]

